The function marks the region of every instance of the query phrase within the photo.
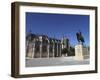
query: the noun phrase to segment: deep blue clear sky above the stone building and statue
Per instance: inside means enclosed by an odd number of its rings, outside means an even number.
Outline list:
[[[72,45],[78,43],[76,32],[80,30],[85,44],[89,45],[89,15],[26,12],[26,34],[30,30],[57,39],[65,36]]]

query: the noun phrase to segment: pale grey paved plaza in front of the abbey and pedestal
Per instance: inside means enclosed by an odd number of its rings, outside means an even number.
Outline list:
[[[57,57],[57,58],[33,58],[26,59],[26,67],[40,66],[63,66],[63,65],[87,65],[89,59],[75,60],[74,57]]]

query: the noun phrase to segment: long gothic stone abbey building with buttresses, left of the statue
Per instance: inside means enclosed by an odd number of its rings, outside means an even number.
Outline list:
[[[69,40],[50,38],[47,35],[29,33],[26,36],[26,58],[61,57],[62,49],[69,49]]]

